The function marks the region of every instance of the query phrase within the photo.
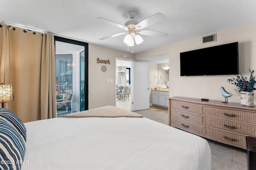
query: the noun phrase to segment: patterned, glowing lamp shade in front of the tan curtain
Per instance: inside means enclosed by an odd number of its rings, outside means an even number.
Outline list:
[[[0,84],[0,103],[12,102],[13,100],[14,100],[13,86]]]

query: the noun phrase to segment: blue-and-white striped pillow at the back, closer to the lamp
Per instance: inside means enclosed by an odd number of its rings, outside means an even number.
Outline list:
[[[12,127],[14,127],[14,129],[20,133],[24,143],[26,143],[26,127],[18,116],[8,109],[0,108],[0,119],[5,120]]]

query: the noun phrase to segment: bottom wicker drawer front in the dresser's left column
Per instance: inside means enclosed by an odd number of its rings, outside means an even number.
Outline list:
[[[180,129],[183,129],[184,131],[196,133],[198,135],[203,135],[202,126],[194,125],[193,123],[188,123],[175,118],[171,119],[171,123],[173,127],[178,127]]]

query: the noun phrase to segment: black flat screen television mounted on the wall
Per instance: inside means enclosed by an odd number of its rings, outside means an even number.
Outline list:
[[[238,42],[180,53],[180,76],[238,74]]]

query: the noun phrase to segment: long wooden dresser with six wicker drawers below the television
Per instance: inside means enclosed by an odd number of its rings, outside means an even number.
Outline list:
[[[246,149],[246,136],[256,137],[256,106],[173,97],[169,117],[172,127],[242,149]]]

